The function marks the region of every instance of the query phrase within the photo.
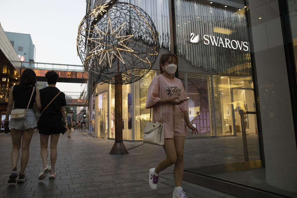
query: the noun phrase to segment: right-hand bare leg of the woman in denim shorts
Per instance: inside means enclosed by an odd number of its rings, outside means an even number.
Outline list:
[[[20,174],[24,174],[29,160],[29,147],[33,136],[34,128],[29,128],[23,131],[22,140],[22,157],[21,157],[21,170]]]

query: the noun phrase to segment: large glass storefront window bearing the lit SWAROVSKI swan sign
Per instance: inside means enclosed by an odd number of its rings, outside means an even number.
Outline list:
[[[202,145],[185,156],[186,172],[296,196],[286,192],[296,192],[296,82],[287,73],[283,2],[174,0],[177,77],[199,131],[185,145]],[[296,60],[297,2],[287,2]]]

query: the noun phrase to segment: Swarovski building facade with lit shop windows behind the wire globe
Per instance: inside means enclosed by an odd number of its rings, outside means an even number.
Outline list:
[[[125,2],[151,16],[160,54],[178,55],[175,77],[191,98],[189,118],[199,131],[186,143],[217,141],[209,149],[197,144],[184,180],[240,197],[297,197],[297,2]],[[157,60],[141,80],[123,85],[124,140],[142,140],[158,69]],[[89,86],[92,134],[113,139],[114,85],[90,79]]]

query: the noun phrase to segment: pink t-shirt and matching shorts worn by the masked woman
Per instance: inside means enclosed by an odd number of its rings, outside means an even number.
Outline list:
[[[161,78],[161,96],[159,96],[159,86]],[[161,98],[170,99],[172,97],[179,97],[176,99],[186,98],[186,92],[183,88],[182,82],[178,79],[168,79],[163,75],[157,75],[153,78],[149,85],[145,108],[153,108],[152,122],[160,122],[160,105],[155,105]],[[174,136],[186,136],[188,134],[183,111],[188,110],[188,102],[183,102],[180,105],[162,104],[162,121],[164,123],[165,138],[174,138]]]

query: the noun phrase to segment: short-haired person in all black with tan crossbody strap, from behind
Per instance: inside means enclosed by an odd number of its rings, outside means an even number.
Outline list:
[[[40,133],[40,154],[43,168],[38,175],[38,179],[45,179],[49,172],[50,179],[56,178],[55,164],[57,160],[57,144],[60,133],[64,134],[66,132],[66,99],[65,94],[56,88],[58,77],[59,75],[54,71],[46,72],[45,79],[49,86],[40,90],[42,113],[37,127]],[[49,136],[51,166],[47,163],[49,155],[47,151]]]

